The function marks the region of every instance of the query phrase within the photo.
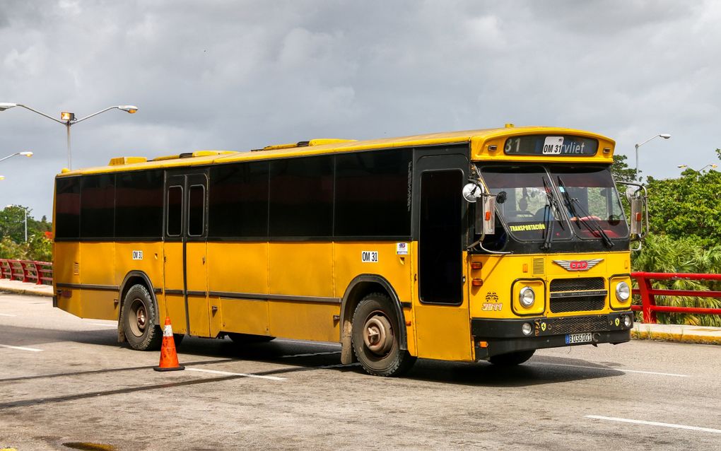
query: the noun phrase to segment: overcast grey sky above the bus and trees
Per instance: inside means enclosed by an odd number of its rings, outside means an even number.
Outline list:
[[[0,0],[0,102],[111,157],[504,123],[616,139],[657,178],[718,161],[719,1]],[[0,112],[0,205],[51,216],[65,128]]]

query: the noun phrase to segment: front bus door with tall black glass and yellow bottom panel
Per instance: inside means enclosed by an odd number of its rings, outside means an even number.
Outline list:
[[[417,159],[417,296],[413,308],[419,357],[456,361],[472,357],[469,304],[464,297],[465,209],[461,196],[468,168],[464,154]]]

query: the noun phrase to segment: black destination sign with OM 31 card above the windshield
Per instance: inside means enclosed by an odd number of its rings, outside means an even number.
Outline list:
[[[570,135],[513,136],[503,149],[506,155],[588,157],[598,152],[598,141]]]

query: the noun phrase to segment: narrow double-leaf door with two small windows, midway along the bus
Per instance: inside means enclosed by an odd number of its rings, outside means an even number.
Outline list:
[[[204,171],[169,175],[166,179],[166,310],[174,330],[193,336],[210,336],[207,192],[208,176]]]

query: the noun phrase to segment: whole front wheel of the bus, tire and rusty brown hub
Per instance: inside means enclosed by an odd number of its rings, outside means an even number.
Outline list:
[[[373,293],[361,299],[353,312],[353,352],[369,375],[399,376],[415,363],[400,349],[400,321],[391,299]]]

